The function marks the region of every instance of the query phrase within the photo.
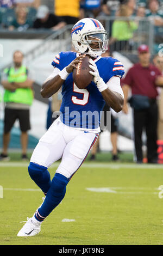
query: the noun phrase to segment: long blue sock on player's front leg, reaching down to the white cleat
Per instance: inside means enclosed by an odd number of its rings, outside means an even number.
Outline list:
[[[64,175],[55,173],[45,201],[36,211],[35,218],[37,221],[43,221],[65,197],[68,181],[70,180]]]

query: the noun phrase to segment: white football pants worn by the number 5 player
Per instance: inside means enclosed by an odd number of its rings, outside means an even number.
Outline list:
[[[40,138],[30,162],[48,168],[61,159],[56,172],[70,179],[85,160],[98,135],[66,126],[58,118]]]

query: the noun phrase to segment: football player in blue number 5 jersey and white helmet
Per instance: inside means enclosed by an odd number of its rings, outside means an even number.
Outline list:
[[[107,33],[101,22],[91,18],[80,20],[72,28],[71,39],[76,52],[60,52],[55,56],[54,71],[41,88],[43,97],[51,97],[62,87],[61,115],[40,138],[28,167],[30,177],[46,197],[33,217],[27,218],[17,236],[39,233],[43,220],[64,198],[68,182],[99,135],[104,103],[116,112],[123,107],[120,78],[124,68],[115,58],[101,57],[108,47]],[[86,55],[90,57],[93,80],[85,89],[79,89],[73,82],[72,72]],[[84,119],[88,111],[99,113],[98,119]],[[48,167],[59,159],[61,162],[51,180]]]

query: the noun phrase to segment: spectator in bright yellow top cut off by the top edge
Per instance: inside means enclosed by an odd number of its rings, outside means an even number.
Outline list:
[[[55,0],[54,14],[67,24],[75,24],[80,19],[80,0]]]

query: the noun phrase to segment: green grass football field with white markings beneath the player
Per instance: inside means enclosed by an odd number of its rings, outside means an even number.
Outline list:
[[[100,155],[100,154],[99,154]],[[43,193],[28,175],[28,162],[11,154],[0,163],[0,245],[163,245],[163,166],[112,163],[106,154],[85,161],[67,185],[62,203],[34,237],[17,237]],[[49,168],[53,177],[59,162]],[[97,191],[95,191],[97,190]],[[62,222],[63,219],[75,220]]]

